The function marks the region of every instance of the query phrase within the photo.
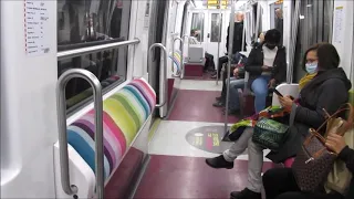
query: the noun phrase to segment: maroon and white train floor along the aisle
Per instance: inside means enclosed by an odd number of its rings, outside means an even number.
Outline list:
[[[230,170],[205,164],[206,157],[218,156],[230,146],[221,142],[221,108],[211,105],[220,91],[221,82],[183,80],[171,112],[150,140],[150,160],[134,198],[229,198],[231,191],[246,187],[247,154]],[[237,121],[229,116],[229,123]],[[263,169],[271,167],[264,158]]]

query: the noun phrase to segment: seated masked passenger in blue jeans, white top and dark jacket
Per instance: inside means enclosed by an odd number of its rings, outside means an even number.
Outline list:
[[[285,81],[287,52],[280,46],[278,30],[267,31],[264,42],[252,49],[244,70],[250,73],[249,87],[254,93],[256,113],[266,108],[268,88]]]

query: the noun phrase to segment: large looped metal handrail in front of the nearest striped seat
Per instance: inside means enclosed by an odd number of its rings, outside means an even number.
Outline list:
[[[90,83],[93,87],[94,114],[95,114],[95,176],[96,176],[96,195],[98,199],[104,199],[104,154],[103,154],[103,124],[102,124],[102,86],[97,77],[90,71],[83,69],[71,69],[65,71],[56,83],[56,109],[58,109],[58,128],[60,144],[60,167],[62,188],[67,195],[77,193],[77,187],[71,185],[69,172],[67,155],[67,135],[66,135],[66,100],[65,87],[71,78],[81,77]]]

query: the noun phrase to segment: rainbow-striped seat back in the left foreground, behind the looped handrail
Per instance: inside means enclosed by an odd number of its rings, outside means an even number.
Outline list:
[[[144,78],[137,78],[103,102],[105,179],[118,166],[123,155],[152,114],[156,94]],[[94,111],[67,127],[67,143],[95,171]]]

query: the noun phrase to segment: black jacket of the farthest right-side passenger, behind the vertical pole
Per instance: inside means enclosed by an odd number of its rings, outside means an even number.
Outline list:
[[[228,34],[226,36],[226,49],[229,52],[229,31],[230,27],[228,27]],[[242,50],[242,38],[243,38],[243,22],[235,22],[233,28],[233,43],[232,43],[232,54],[236,54],[240,51],[246,51],[246,41],[243,43]]]

